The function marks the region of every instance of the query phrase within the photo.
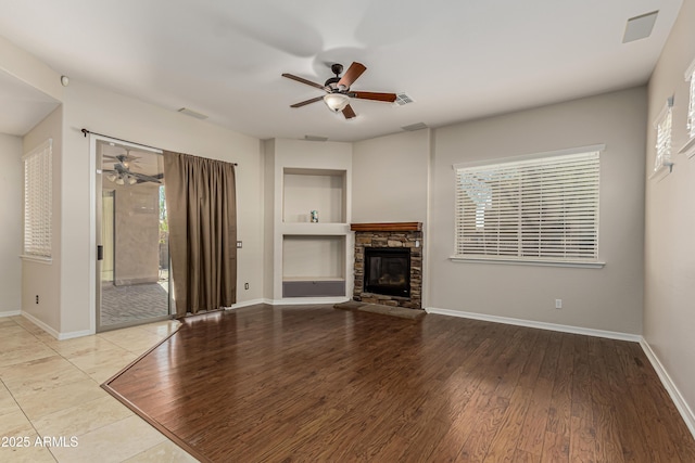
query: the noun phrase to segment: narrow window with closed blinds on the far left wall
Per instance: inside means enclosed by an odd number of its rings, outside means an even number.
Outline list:
[[[22,156],[24,163],[24,256],[50,259],[52,241],[52,140]]]

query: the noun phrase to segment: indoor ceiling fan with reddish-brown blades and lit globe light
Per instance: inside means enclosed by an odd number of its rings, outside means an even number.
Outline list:
[[[326,92],[325,95],[316,97],[311,100],[302,101],[300,103],[294,103],[290,105],[290,107],[301,107],[309,103],[315,103],[319,100],[324,100],[330,111],[332,111],[333,113],[342,112],[343,116],[345,116],[345,119],[352,119],[356,116],[355,112],[350,105],[350,99],[352,98],[362,100],[384,101],[389,103],[393,103],[395,101],[395,93],[377,93],[350,90],[350,86],[352,86],[353,82],[357,80],[357,78],[362,76],[365,70],[367,70],[367,67],[365,67],[365,65],[362,63],[352,63],[342,77],[340,77],[343,72],[342,64],[336,63],[330,66],[330,69],[336,75],[336,77],[329,78],[323,86],[320,83],[312,82],[311,80],[306,80],[293,74],[282,74],[282,77],[296,80],[298,82],[306,83],[307,86],[321,89]]]

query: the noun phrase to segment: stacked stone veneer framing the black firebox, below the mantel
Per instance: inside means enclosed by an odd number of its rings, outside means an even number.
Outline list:
[[[365,247],[407,247],[410,249],[410,297],[365,293]],[[422,308],[422,232],[356,231],[354,300],[410,309]]]

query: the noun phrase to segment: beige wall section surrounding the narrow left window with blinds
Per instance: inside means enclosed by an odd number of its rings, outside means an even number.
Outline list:
[[[63,107],[59,106],[24,137],[24,152],[28,153],[48,139],[53,140],[53,216],[52,216],[52,261],[51,263],[23,259],[22,261],[22,311],[46,324],[54,334],[61,325],[61,263],[63,261],[64,217],[62,215],[62,159],[63,159]],[[36,304],[36,296],[39,304]]]

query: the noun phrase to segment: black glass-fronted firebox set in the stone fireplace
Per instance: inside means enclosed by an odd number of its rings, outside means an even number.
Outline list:
[[[410,297],[410,249],[365,248],[365,292]]]

